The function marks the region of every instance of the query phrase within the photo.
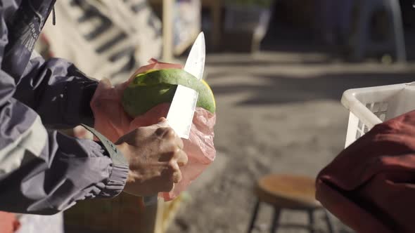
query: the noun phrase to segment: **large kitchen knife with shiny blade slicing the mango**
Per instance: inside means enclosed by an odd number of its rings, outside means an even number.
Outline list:
[[[200,32],[189,53],[184,65],[184,71],[189,72],[196,79],[203,78],[205,69],[205,35]],[[180,138],[189,139],[193,115],[198,102],[199,93],[192,88],[178,85],[169,112],[167,122]],[[157,196],[144,197],[146,206],[157,203]]]

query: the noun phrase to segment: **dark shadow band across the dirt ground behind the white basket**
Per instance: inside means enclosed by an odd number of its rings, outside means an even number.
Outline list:
[[[415,74],[324,74],[298,79],[291,76],[260,76],[261,84],[212,85],[215,95],[250,93],[237,105],[279,105],[309,100],[340,100],[350,88],[383,86],[415,81]]]

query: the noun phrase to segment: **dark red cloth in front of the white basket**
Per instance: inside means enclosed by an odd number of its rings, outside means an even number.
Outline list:
[[[319,173],[316,197],[357,232],[415,232],[415,112],[341,152]]]

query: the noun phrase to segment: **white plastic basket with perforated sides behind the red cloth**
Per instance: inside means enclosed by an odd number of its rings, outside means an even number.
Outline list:
[[[345,147],[376,124],[415,109],[415,82],[350,89],[342,104],[349,109]]]

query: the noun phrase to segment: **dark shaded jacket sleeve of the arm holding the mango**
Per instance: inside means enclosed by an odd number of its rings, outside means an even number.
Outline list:
[[[89,102],[98,82],[63,59],[30,60],[14,97],[34,109],[50,128],[94,124]]]

